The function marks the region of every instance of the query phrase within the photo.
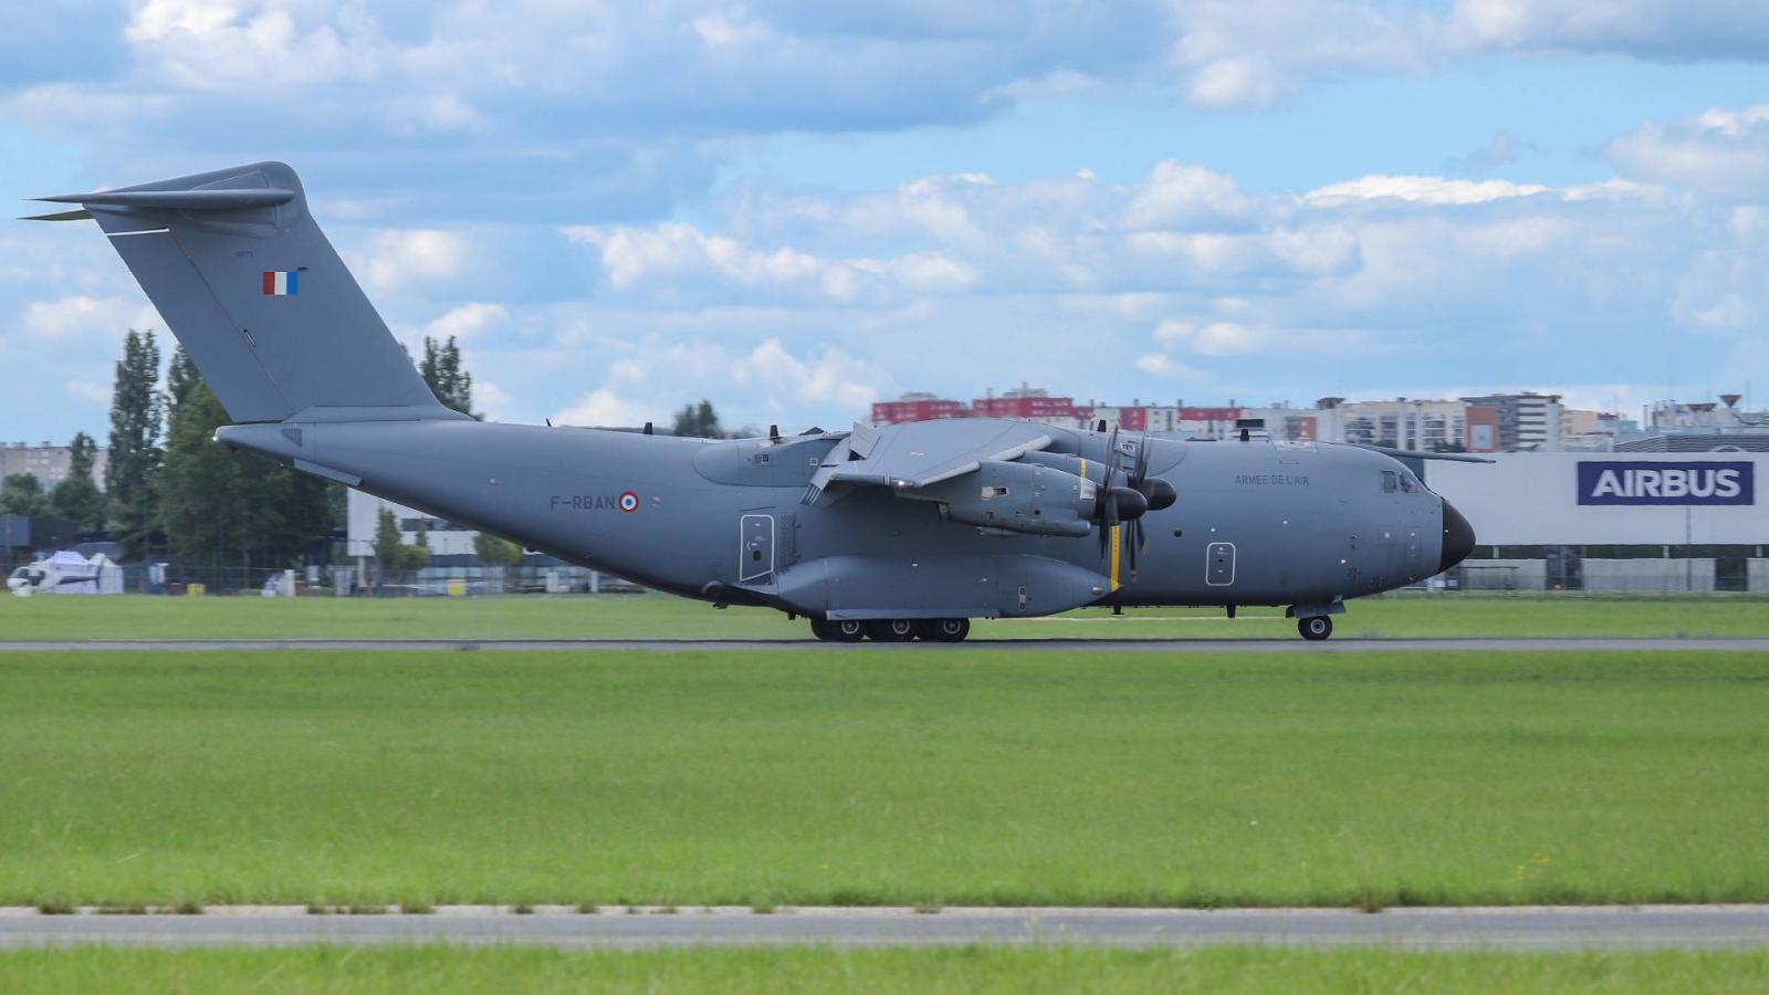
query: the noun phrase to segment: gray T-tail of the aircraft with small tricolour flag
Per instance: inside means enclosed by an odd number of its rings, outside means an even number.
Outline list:
[[[34,220],[99,223],[234,421],[465,418],[417,375],[283,163],[41,200],[80,209]]]

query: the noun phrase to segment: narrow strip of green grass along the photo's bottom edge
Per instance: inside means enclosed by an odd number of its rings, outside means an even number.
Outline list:
[[[0,953],[0,990],[62,991],[1762,991],[1760,951],[1401,953],[1086,947],[205,949]]]

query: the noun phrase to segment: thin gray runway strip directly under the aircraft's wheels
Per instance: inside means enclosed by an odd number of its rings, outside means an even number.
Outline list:
[[[1024,650],[1081,652],[1113,650],[1143,653],[1440,653],[1440,652],[1592,652],[1592,650],[1769,650],[1769,639],[1675,639],[1675,637],[1491,637],[1491,639],[971,639],[966,643],[819,643],[816,639],[12,639],[0,641],[0,653],[111,650],[111,652],[262,652],[262,650],[715,650],[715,652],[923,652]]]

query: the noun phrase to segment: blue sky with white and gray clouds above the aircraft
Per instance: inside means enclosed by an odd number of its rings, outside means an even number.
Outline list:
[[[271,158],[502,421],[1769,400],[1762,0],[0,11],[12,197]],[[0,441],[103,434],[131,326],[96,228],[0,225]]]

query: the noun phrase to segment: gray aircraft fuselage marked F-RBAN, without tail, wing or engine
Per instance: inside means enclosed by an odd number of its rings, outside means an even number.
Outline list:
[[[1053,453],[1106,459],[1100,432],[1049,434]],[[1330,605],[1449,559],[1444,501],[1401,462],[1334,444],[1146,439],[1150,474],[1178,501],[1143,517],[1132,572],[1093,535],[978,529],[888,487],[805,505],[833,448],[819,436],[350,421],[234,425],[218,439],[653,588],[812,616]]]

